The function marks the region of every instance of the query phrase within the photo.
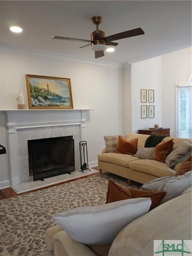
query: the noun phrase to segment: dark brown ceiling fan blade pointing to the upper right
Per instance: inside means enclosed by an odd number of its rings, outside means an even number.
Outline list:
[[[103,39],[108,42],[108,41],[115,41],[123,38],[132,37],[132,36],[139,36],[143,34],[145,34],[143,29],[135,28],[135,29],[124,31],[115,35],[106,36]]]

